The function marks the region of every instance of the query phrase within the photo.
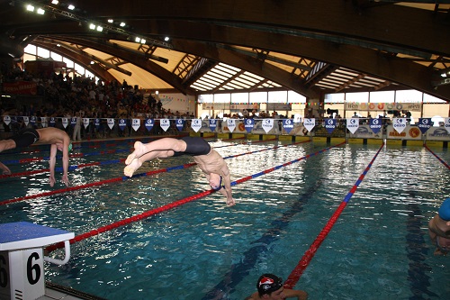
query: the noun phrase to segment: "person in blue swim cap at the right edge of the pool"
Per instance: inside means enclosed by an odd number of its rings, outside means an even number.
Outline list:
[[[435,255],[446,255],[450,251],[450,198],[442,203],[437,215],[429,221],[428,234],[437,247]]]

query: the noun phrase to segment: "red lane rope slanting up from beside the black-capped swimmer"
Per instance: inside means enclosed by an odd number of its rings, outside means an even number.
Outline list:
[[[312,242],[310,249],[306,250],[306,252],[303,254],[303,257],[300,260],[297,267],[293,269],[293,272],[291,272],[289,277],[284,282],[285,288],[293,288],[293,286],[295,286],[297,284],[297,282],[299,281],[300,277],[303,274],[303,271],[308,267],[308,265],[311,262],[311,259],[314,257],[317,250],[319,250],[320,244],[322,243],[322,241],[325,240],[325,238],[331,231],[331,228],[333,227],[333,225],[338,221],[339,215],[342,213],[344,208],[346,208],[346,205],[347,205],[348,201],[350,201],[350,198],[352,197],[352,195],[355,194],[356,188],[361,184],[361,182],[363,182],[363,179],[365,178],[365,174],[367,174],[369,169],[372,167],[375,159],[377,158],[378,154],[383,149],[383,147],[384,147],[384,143],[382,144],[380,149],[376,152],[376,154],[374,155],[374,158],[370,161],[369,165],[367,165],[364,172],[358,177],[358,179],[356,180],[356,184],[350,189],[350,192],[348,192],[348,194],[346,195],[344,200],[338,206],[338,209],[331,216],[331,218],[329,218],[329,222],[325,225],[325,227],[319,233],[316,240],[314,240]]]

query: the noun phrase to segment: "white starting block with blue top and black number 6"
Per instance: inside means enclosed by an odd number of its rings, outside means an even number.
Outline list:
[[[0,299],[34,300],[45,295],[43,261],[64,265],[73,232],[17,222],[0,224]],[[44,257],[43,247],[65,242],[63,260]]]

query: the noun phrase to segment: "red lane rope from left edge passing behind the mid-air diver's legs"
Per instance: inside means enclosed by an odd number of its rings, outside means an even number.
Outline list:
[[[245,153],[229,156],[229,157],[226,157],[224,159],[230,159],[230,158],[235,158],[235,157],[238,157],[238,156],[241,156],[241,155],[245,155],[245,154],[251,154],[251,153],[256,153],[256,152],[261,152],[261,151],[266,151],[266,150],[273,150],[273,149],[286,147],[286,146],[292,146],[292,145],[303,143],[303,142],[309,142],[309,141],[298,141],[298,142],[295,142],[295,143],[292,143],[292,144],[287,144],[287,145],[282,145],[282,146],[275,146],[275,147],[272,147],[272,148],[266,148],[266,149],[262,149],[262,150],[255,150],[255,151],[245,152]],[[34,198],[39,198],[41,196],[62,194],[62,193],[76,191],[78,189],[83,189],[83,188],[91,187],[91,186],[103,186],[103,185],[106,185],[106,184],[110,184],[112,182],[125,181],[125,180],[129,180],[129,179],[135,178],[135,177],[151,176],[151,175],[155,175],[155,174],[158,174],[158,173],[168,172],[168,171],[171,171],[171,170],[174,170],[174,169],[191,168],[191,167],[193,167],[195,165],[196,165],[196,163],[191,163],[191,164],[184,164],[184,165],[175,166],[175,167],[169,167],[169,168],[160,168],[160,169],[153,170],[153,171],[148,171],[148,172],[145,172],[145,173],[135,174],[135,175],[133,175],[133,177],[126,177],[126,176],[115,177],[115,178],[111,178],[111,179],[107,179],[107,180],[101,180],[101,181],[93,182],[93,183],[86,184],[86,185],[70,186],[70,187],[61,188],[61,189],[57,189],[57,190],[49,191],[49,192],[45,192],[45,193],[39,193],[39,194],[35,194],[35,195],[25,195],[25,196],[22,196],[22,197],[17,197],[17,198],[14,198],[14,199],[9,199],[9,200],[2,201],[2,202],[0,202],[0,205],[9,205],[9,204],[12,204],[14,202],[19,202],[19,201],[23,201],[23,200],[30,200],[30,199],[34,199]]]

